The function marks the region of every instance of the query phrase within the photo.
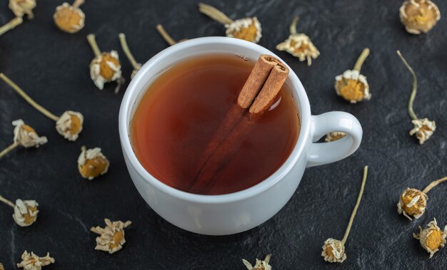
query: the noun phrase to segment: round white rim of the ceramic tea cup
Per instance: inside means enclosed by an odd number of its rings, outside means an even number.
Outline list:
[[[248,187],[247,189],[243,189],[238,192],[232,192],[228,194],[217,194],[217,195],[205,195],[205,194],[194,194],[190,192],[184,192],[179,189],[175,189],[174,187],[170,187],[169,185],[164,184],[160,180],[156,179],[153,175],[151,175],[146,169],[141,165],[138,158],[136,157],[134,150],[131,146],[131,140],[129,135],[129,121],[128,116],[132,113],[132,109],[134,104],[131,103],[134,95],[138,95],[141,91],[146,90],[145,88],[141,88],[141,85],[147,83],[148,79],[144,78],[146,73],[149,71],[154,71],[157,68],[157,63],[163,61],[166,56],[169,56],[170,53],[174,53],[176,51],[181,51],[186,48],[191,48],[195,46],[213,46],[213,45],[231,45],[231,46],[241,46],[247,48],[248,50],[255,51],[259,54],[271,54],[275,56],[286,66],[289,68],[290,73],[288,74],[288,80],[291,82],[291,90],[293,94],[297,95],[297,105],[298,110],[300,110],[301,116],[301,130],[298,134],[298,140],[296,141],[295,146],[289,157],[283,162],[283,165],[273,172],[272,175],[267,177],[265,180],[262,180],[256,185],[252,187]],[[169,194],[172,197],[176,197],[178,199],[184,199],[189,202],[198,202],[198,203],[207,203],[207,204],[221,204],[226,202],[235,202],[238,200],[247,199],[249,197],[256,196],[265,192],[267,189],[276,185],[277,182],[281,181],[283,177],[285,177],[288,172],[291,171],[293,166],[298,162],[298,159],[301,157],[304,151],[304,147],[306,147],[306,143],[308,141],[309,131],[311,130],[311,108],[308,101],[308,97],[306,95],[306,91],[301,84],[301,81],[298,79],[298,76],[293,72],[290,66],[287,65],[285,61],[283,61],[280,57],[276,56],[275,53],[269,51],[267,48],[263,48],[256,43],[251,43],[249,41],[243,41],[238,38],[228,38],[221,36],[211,36],[204,38],[194,38],[188,41],[182,41],[181,43],[177,43],[174,46],[170,46],[163,51],[157,53],[154,57],[149,59],[144,66],[141,67],[136,76],[132,79],[131,83],[124,94],[123,100],[121,101],[121,107],[119,110],[119,136],[121,140],[121,147],[123,149],[124,155],[126,155],[132,167],[134,167],[135,171],[139,174],[139,176],[145,181],[148,182],[149,185],[155,187],[161,192],[165,194]]]

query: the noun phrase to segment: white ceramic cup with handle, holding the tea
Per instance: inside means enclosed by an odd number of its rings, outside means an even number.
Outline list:
[[[255,43],[236,38],[207,37],[178,43],[144,64],[129,84],[119,111],[124,159],[141,197],[168,222],[190,232],[209,235],[235,234],[266,222],[288,202],[306,167],[348,157],[357,150],[363,133],[358,120],[348,113],[311,115],[306,91],[289,67],[286,83],[291,86],[298,105],[301,131],[290,157],[273,175],[248,189],[222,195],[192,194],[165,185],[144,169],[132,150],[129,139],[131,118],[139,100],[161,73],[186,58],[218,53],[243,56],[251,61],[256,61],[261,54],[276,56]],[[348,135],[335,142],[316,143],[332,131]]]

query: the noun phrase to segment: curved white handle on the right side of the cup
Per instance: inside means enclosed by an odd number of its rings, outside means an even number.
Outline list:
[[[348,133],[333,142],[316,142],[327,133],[340,131]],[[363,130],[357,118],[349,113],[330,112],[311,116],[312,144],[307,167],[324,165],[348,157],[356,152]]]

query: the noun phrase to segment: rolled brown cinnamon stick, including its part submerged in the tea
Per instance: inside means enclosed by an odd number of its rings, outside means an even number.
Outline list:
[[[273,56],[258,58],[238,95],[237,104],[227,113],[193,171],[189,191],[203,192],[212,187],[213,178],[237,152],[253,122],[272,105],[288,76],[288,68]],[[243,117],[248,113],[246,117]]]

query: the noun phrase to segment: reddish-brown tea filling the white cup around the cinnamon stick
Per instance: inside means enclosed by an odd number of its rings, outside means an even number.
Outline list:
[[[196,194],[226,194],[258,184],[278,170],[296,144],[298,108],[283,85],[260,118],[231,147],[206,187],[194,168],[236,104],[254,63],[230,55],[188,59],[149,86],[131,121],[131,142],[141,165],[166,185]]]

